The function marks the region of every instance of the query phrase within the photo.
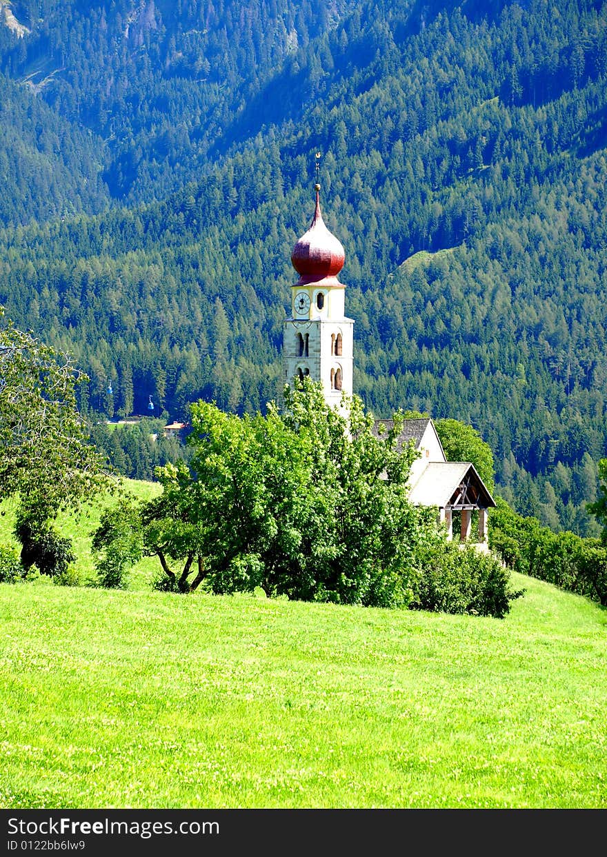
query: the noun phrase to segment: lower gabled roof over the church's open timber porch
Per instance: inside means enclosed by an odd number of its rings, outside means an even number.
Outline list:
[[[462,496],[460,488],[469,488],[472,496]],[[466,494],[466,491],[464,491]],[[414,506],[474,506],[491,508],[496,506],[474,464],[469,461],[430,461],[412,484],[409,500]]]

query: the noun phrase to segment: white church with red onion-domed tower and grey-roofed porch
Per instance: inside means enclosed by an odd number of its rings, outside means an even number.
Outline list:
[[[316,183],[316,207],[310,229],[295,244],[291,262],[299,274],[291,286],[291,313],[283,332],[284,380],[310,376],[320,381],[329,405],[341,409],[341,396],[353,392],[354,321],[346,316],[346,286],[338,275],[346,252],[322,219],[321,186]],[[378,437],[390,427],[376,420]],[[479,547],[487,547],[487,514],[496,506],[474,465],[448,461],[431,419],[406,420],[399,445],[413,442],[418,458],[409,477],[409,498],[418,506],[433,506],[439,520],[454,536],[454,517],[460,540],[472,535],[472,513],[477,512]]]

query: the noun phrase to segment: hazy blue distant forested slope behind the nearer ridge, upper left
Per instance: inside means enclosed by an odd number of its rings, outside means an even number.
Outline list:
[[[98,138],[111,198],[148,202],[199,179],[277,67],[308,62],[356,0],[29,0],[0,28],[0,70]],[[317,51],[318,49],[316,49]],[[262,98],[262,100],[266,100]],[[273,105],[280,120],[289,116]],[[255,110],[255,113],[258,111]],[[253,120],[259,121],[259,116]],[[257,130],[259,129],[259,126]],[[9,205],[9,201],[4,201]]]

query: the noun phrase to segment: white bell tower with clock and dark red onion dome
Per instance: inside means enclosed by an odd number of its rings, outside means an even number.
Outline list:
[[[352,396],[353,325],[346,318],[346,286],[337,275],[346,253],[328,231],[321,213],[321,186],[310,229],[297,241],[291,262],[299,274],[291,285],[291,313],[283,333],[284,381],[309,375],[322,383],[328,404],[340,409],[341,394]]]

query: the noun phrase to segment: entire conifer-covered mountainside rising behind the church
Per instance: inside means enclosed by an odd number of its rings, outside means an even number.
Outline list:
[[[31,33],[0,27],[2,98],[21,111],[0,303],[75,353],[83,405],[141,413],[151,395],[183,417],[199,396],[234,411],[275,398],[318,150],[357,392],[378,417],[472,423],[520,512],[591,531],[607,453],[604,0],[12,7]],[[45,150],[54,190],[21,194],[47,114],[66,141]]]

